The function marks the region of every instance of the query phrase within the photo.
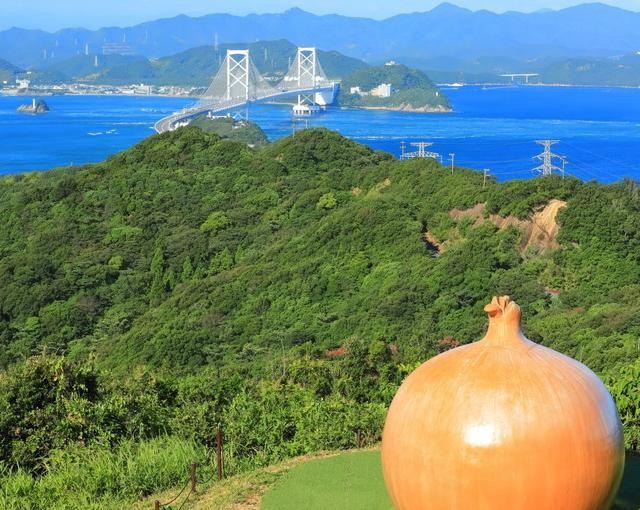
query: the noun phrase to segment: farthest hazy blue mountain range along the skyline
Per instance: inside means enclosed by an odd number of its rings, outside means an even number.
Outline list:
[[[640,13],[597,3],[529,14],[473,12],[442,4],[428,12],[381,21],[290,9],[248,16],[181,15],[94,31],[73,28],[48,33],[12,28],[0,32],[0,58],[22,67],[42,67],[87,50],[162,57],[212,45],[216,37],[220,43],[285,38],[371,62],[439,56],[605,57],[640,49],[638,26]]]

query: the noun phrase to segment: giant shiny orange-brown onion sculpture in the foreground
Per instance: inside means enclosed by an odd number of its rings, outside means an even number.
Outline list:
[[[485,337],[430,359],[396,394],[382,463],[399,510],[599,510],[624,468],[600,379],[528,340],[508,297]]]

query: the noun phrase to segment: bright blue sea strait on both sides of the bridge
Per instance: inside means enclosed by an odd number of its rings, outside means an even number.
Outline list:
[[[249,118],[270,139],[327,127],[400,154],[401,142],[433,142],[448,163],[489,169],[500,180],[531,177],[538,139],[560,143],[567,173],[585,180],[640,180],[640,88],[462,87],[445,89],[455,111],[425,114],[329,108],[306,120],[286,105],[253,105]],[[161,117],[193,100],[124,96],[53,96],[51,112],[17,113],[30,98],[0,96],[0,174],[101,161],[153,134]]]

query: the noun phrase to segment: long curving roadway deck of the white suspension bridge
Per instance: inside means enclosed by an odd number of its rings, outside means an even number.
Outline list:
[[[276,99],[281,99],[287,96],[293,96],[297,94],[315,94],[317,92],[333,92],[334,98],[335,93],[337,91],[338,83],[332,82],[328,85],[323,85],[321,87],[311,87],[311,88],[301,88],[301,89],[280,89],[275,94],[268,94],[263,97],[253,98],[249,100],[243,99],[232,99],[229,101],[225,101],[217,104],[208,104],[201,106],[194,106],[191,108],[184,108],[179,112],[173,113],[168,117],[160,119],[155,123],[154,128],[157,133],[165,133],[166,131],[173,131],[174,129],[184,125],[194,119],[195,117],[199,117],[200,115],[204,115],[206,113],[214,113],[220,114],[224,112],[228,112],[234,110],[236,108],[242,108],[250,103],[260,103],[264,101],[273,101]]]

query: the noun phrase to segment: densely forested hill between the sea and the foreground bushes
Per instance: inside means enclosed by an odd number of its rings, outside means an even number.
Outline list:
[[[254,152],[197,128],[101,164],[4,177],[0,363],[45,348],[194,370],[353,336],[417,360],[442,338],[478,338],[496,293],[523,305],[534,339],[596,370],[636,358],[636,183],[481,181],[324,130]],[[568,205],[546,254],[449,215],[487,202],[526,217],[552,198]],[[427,230],[448,245],[437,257]]]

